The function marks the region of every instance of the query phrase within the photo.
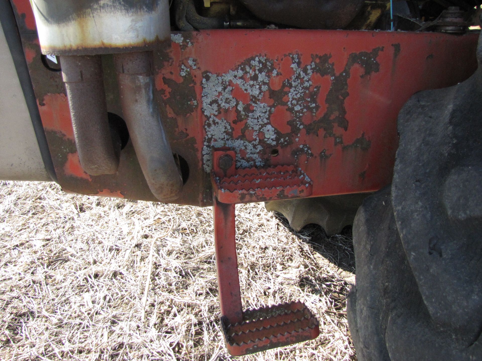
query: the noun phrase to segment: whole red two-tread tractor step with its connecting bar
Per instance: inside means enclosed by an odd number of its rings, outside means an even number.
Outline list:
[[[244,311],[236,254],[235,204],[307,197],[312,182],[299,168],[236,169],[232,150],[214,150],[214,246],[221,323],[233,356],[311,340],[320,334],[318,320],[301,302]]]

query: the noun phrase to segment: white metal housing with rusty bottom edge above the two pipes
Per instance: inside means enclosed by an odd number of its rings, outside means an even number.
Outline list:
[[[168,39],[168,0],[32,0],[44,54],[135,52]]]

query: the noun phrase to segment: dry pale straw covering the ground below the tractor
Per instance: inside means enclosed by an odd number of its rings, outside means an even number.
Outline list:
[[[262,204],[237,206],[237,233],[243,306],[299,299],[321,329],[238,359],[355,360],[350,242],[316,227],[294,233]],[[2,181],[0,254],[1,360],[232,359],[218,322],[211,208]]]

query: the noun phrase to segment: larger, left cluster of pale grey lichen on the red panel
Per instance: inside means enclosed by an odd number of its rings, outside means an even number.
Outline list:
[[[266,57],[256,56],[248,64],[240,65],[222,75],[207,73],[202,79],[202,112],[208,119],[205,123],[206,136],[202,148],[204,170],[211,171],[211,149],[230,147],[236,151],[236,167],[261,167],[264,161],[259,153],[263,151],[261,142],[275,145],[276,131],[269,122],[272,109],[261,102],[263,94],[268,90],[273,63]],[[249,94],[250,102],[242,103],[232,96],[233,85]],[[252,110],[250,109],[252,108]],[[233,139],[233,129],[224,118],[217,118],[221,111],[236,109],[241,119],[246,119],[244,129],[253,130],[253,141]],[[264,134],[261,136],[260,132]],[[263,138],[260,140],[260,137]],[[245,137],[243,137],[245,138]],[[241,157],[244,150],[246,156]]]

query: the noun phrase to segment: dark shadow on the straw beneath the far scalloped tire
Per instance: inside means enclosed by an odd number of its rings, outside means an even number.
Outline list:
[[[308,224],[299,232],[296,232],[291,228],[288,219],[281,213],[273,212],[273,214],[296,238],[308,243],[323,258],[344,271],[355,273],[355,253],[353,251],[351,226],[345,227],[341,234],[327,237],[323,227],[318,224]]]

